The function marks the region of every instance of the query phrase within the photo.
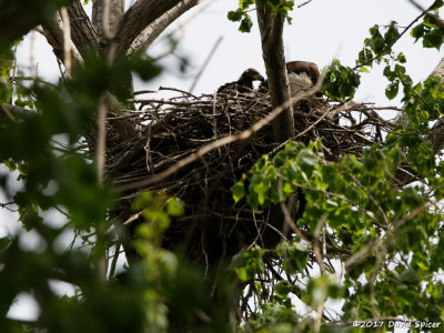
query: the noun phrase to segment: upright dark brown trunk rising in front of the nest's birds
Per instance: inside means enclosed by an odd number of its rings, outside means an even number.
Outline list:
[[[283,48],[283,26],[280,16],[273,16],[270,6],[256,4],[259,29],[262,39],[262,57],[269,79],[269,92],[273,108],[290,99],[289,78],[286,74]],[[273,120],[273,135],[276,143],[282,143],[294,135],[292,105]]]

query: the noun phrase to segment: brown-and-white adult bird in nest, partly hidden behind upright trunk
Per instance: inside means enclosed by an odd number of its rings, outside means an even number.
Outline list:
[[[317,83],[320,71],[315,63],[309,61],[290,61],[286,64],[289,85],[292,98],[303,95]],[[264,80],[258,89],[260,92],[269,91],[269,81]]]

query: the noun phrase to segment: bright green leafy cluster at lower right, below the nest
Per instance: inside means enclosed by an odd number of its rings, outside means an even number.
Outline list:
[[[416,144],[420,149],[421,143]],[[407,159],[400,143],[370,148],[361,160],[344,155],[336,163],[326,162],[321,148],[321,142],[310,143],[309,147],[290,142],[272,160],[263,157],[249,176],[236,183],[234,200],[242,200],[241,188],[246,188],[243,190],[246,202],[258,210],[279,203],[300,189],[305,195],[306,206],[302,219],[296,221],[297,228],[313,231],[319,230],[320,223],[325,223],[331,246],[349,249],[351,255],[363,253],[364,259],[350,268],[339,283],[332,280],[330,272],[310,278],[305,271],[310,253],[307,243],[296,238],[280,244],[276,254],[282,259],[287,280],[275,285],[274,304],[270,304],[268,295],[262,300],[261,311],[265,317],[270,315],[271,305],[280,304],[286,306],[291,317],[296,319],[297,314],[286,297],[287,293],[294,292],[312,309],[327,297],[343,299],[345,321],[370,319],[373,313],[369,281],[376,272],[375,306],[381,316],[405,315],[441,322],[442,313],[437,309],[444,305],[441,296],[444,290],[436,279],[444,261],[436,255],[444,240],[443,215],[433,202],[442,198],[443,180],[431,171],[436,171],[436,168],[427,169],[431,167],[427,165],[422,169],[428,170],[424,175],[430,176],[432,189],[420,185],[397,188],[393,185],[393,174],[396,167]],[[426,158],[433,160],[432,155],[422,157]],[[426,162],[422,160],[417,163]],[[420,167],[416,169],[420,170]],[[379,245],[369,248],[369,244],[375,243]],[[244,266],[236,269],[241,280],[253,274],[260,280],[263,264],[259,254],[259,249],[242,254]],[[379,255],[384,256],[390,268],[375,265]],[[365,276],[365,283],[362,276]],[[309,279],[305,287],[290,283],[303,279]],[[423,285],[418,284],[420,281]],[[427,289],[434,292],[428,293]],[[292,325],[284,330],[278,324],[279,319],[285,322],[289,313],[273,313],[275,325],[263,322],[264,317],[259,314],[260,320],[253,320],[252,325],[268,327],[266,332],[279,327],[281,332],[291,332]]]

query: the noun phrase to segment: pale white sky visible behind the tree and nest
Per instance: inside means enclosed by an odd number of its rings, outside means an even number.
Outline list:
[[[129,6],[132,1],[127,2]],[[401,27],[406,27],[420,14],[420,11],[408,0],[312,0],[297,8],[303,2],[305,1],[295,1],[294,11],[291,14],[292,24],[286,24],[284,28],[286,61],[312,61],[317,63],[321,69],[329,65],[333,59],[339,59],[345,65],[354,67],[363,41],[370,36],[371,27],[374,24],[386,26],[391,20],[395,20]],[[236,80],[248,68],[255,68],[265,74],[254,11],[251,12],[254,22],[251,33],[240,32],[239,23],[226,19],[228,11],[235,10],[238,3],[238,0],[205,0],[201,6],[182,16],[165,33],[181,36],[175,54],[189,60],[189,70],[183,74],[178,74],[178,57],[167,56],[160,60],[165,65],[163,73],[150,82],[141,82],[135,79],[135,90],[158,90],[159,87],[189,90],[220,38],[222,41],[198,81],[193,93],[213,93],[223,83]],[[417,3],[427,7],[433,1],[417,0]],[[91,13],[90,4],[87,7],[87,12]],[[402,50],[406,56],[407,73],[415,82],[424,80],[442,58],[437,50],[423,49],[420,43],[414,43],[413,38],[406,33],[395,47],[396,51]],[[161,36],[149,50],[149,54],[157,58],[165,52],[168,49],[165,47],[168,47],[168,42]],[[36,68],[43,79],[53,82],[58,80],[59,69],[56,58],[51,48],[39,33],[33,32],[27,36],[18,48],[17,56],[23,74],[29,74],[30,70]],[[371,73],[363,74],[362,85],[355,100],[375,102],[377,105],[400,105],[398,99],[389,101],[385,98],[386,83],[386,79],[382,77],[382,67],[375,67]],[[152,97],[158,95],[162,94]],[[385,114],[385,117],[393,118],[394,114]],[[0,172],[6,172],[1,165]],[[13,182],[13,176],[10,181]],[[1,192],[0,202],[4,202]],[[17,215],[0,209],[0,236],[13,234],[19,228]],[[22,304],[31,303],[22,302]],[[21,314],[24,312],[36,313],[28,310],[19,311],[20,306],[14,309],[13,311]]]

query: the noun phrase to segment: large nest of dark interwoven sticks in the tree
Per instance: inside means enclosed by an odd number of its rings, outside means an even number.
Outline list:
[[[273,157],[283,147],[274,143],[271,124],[245,140],[178,165],[203,147],[241,133],[269,114],[272,107],[268,93],[240,93],[233,89],[195,97],[182,92],[168,100],[134,102],[140,105],[139,111],[129,119],[140,134],[121,142],[109,127],[107,150],[108,172],[113,174],[115,184],[141,184],[125,191],[117,209],[117,215],[130,230],[139,222],[130,209],[131,200],[150,190],[174,195],[185,205],[185,214],[174,219],[164,233],[163,246],[183,249],[190,260],[205,268],[229,260],[254,242],[270,248],[284,236],[282,225],[270,224],[270,210],[253,212],[245,202],[234,204],[231,192],[262,154]],[[344,154],[360,157],[364,147],[382,142],[382,133],[390,127],[372,105],[362,103],[307,97],[293,109],[295,123],[303,127],[293,139],[307,143],[323,138],[324,154],[331,161]],[[134,150],[137,145],[143,149]],[[128,157],[124,168],[119,163],[122,157]],[[144,180],[169,168],[175,168],[171,175],[143,185]]]

